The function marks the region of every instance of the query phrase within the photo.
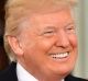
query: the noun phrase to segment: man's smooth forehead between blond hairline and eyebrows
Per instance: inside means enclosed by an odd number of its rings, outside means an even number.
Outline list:
[[[26,15],[26,20],[24,20],[21,24],[23,25],[32,25],[32,26],[47,26],[55,24],[66,24],[73,21],[70,9],[63,9],[61,11],[55,11],[51,13],[34,13],[31,16]]]

